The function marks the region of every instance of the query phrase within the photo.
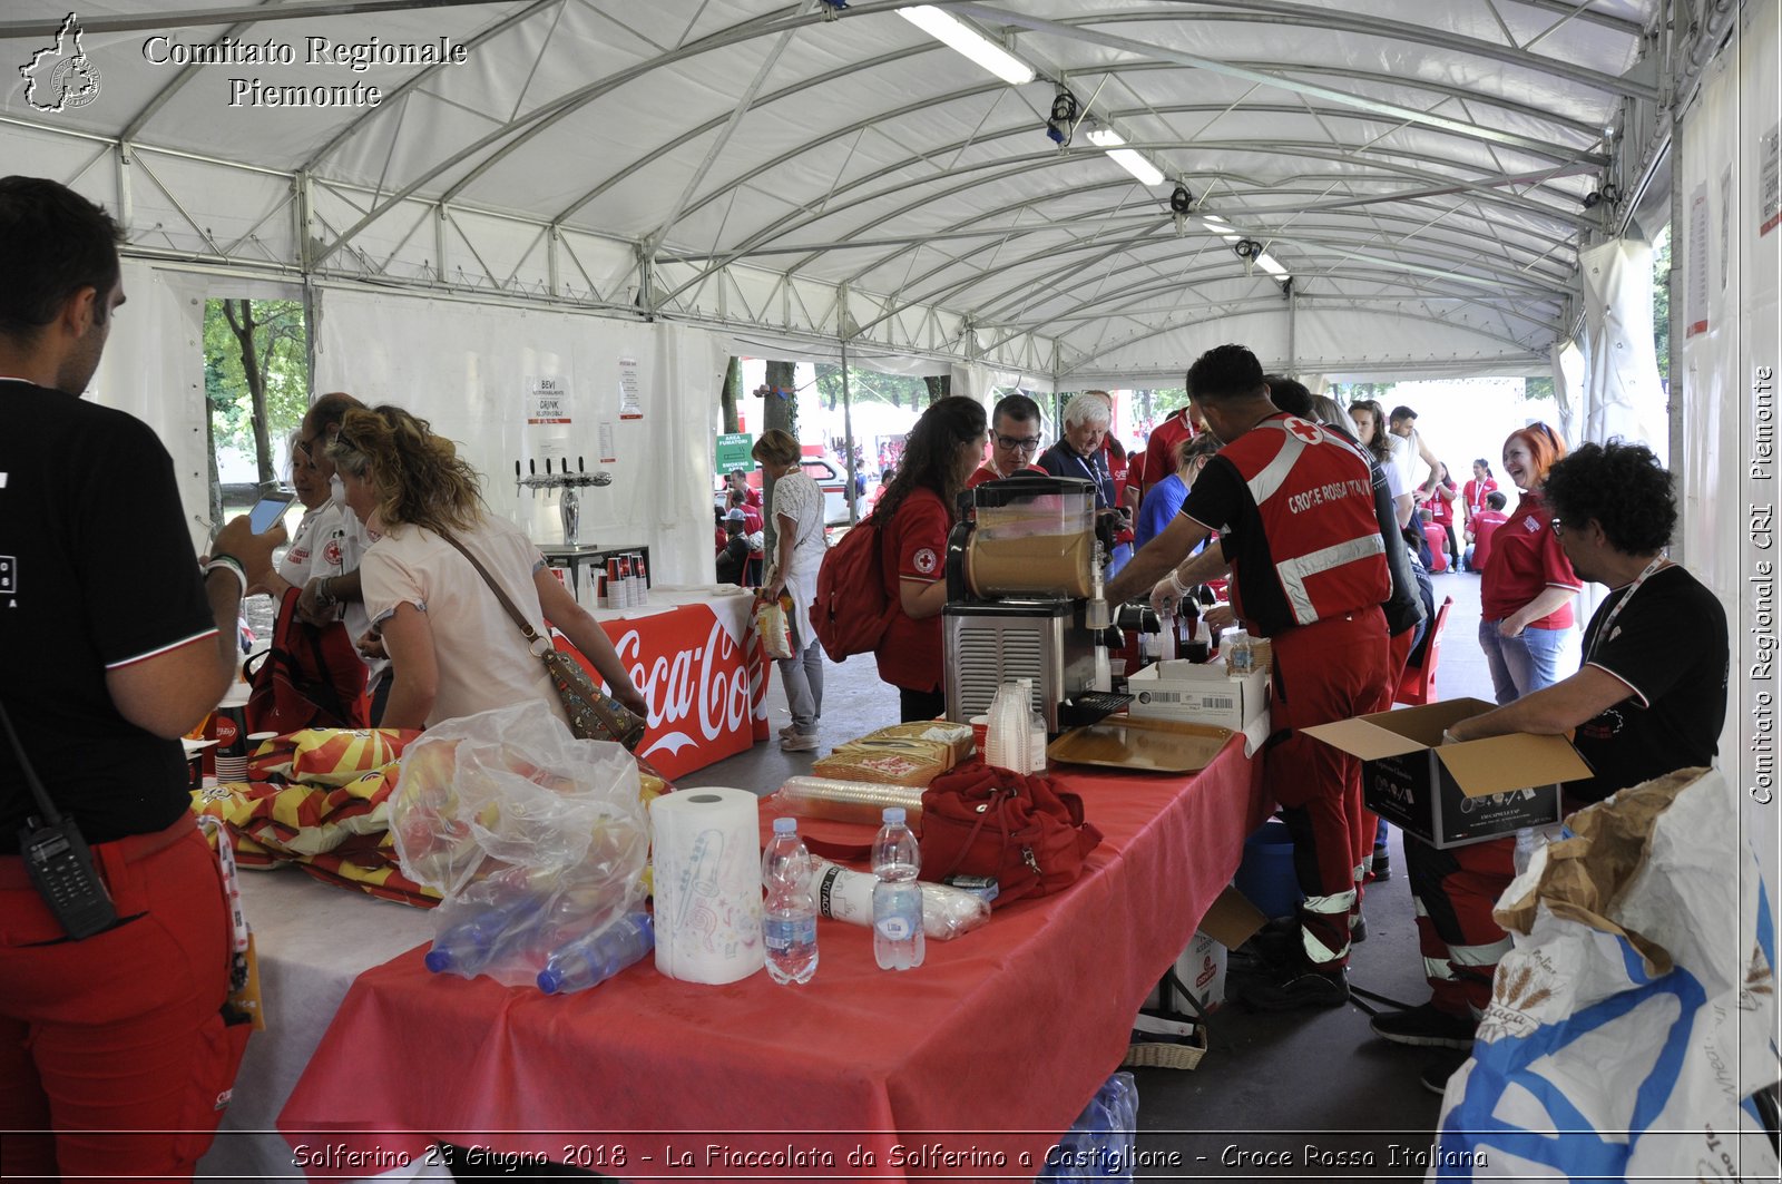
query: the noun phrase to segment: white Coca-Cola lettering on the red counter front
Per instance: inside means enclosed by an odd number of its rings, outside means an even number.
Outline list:
[[[748,670],[716,617],[702,642],[683,642],[679,647],[670,642],[649,660],[642,658],[643,638],[636,628],[625,629],[613,647],[650,706],[650,731],[663,731],[643,756],[700,744],[690,735],[695,728],[706,742],[713,742],[747,724]]]

